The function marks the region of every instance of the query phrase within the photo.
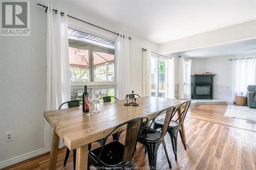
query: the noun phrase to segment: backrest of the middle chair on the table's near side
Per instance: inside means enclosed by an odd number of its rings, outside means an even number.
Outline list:
[[[146,135],[147,135],[148,131],[150,130],[150,128],[155,123],[156,118],[158,116],[160,116],[161,114],[165,114],[163,127],[161,128],[161,131],[159,131],[161,133],[161,135],[158,138],[156,138],[156,139],[147,139],[147,140],[157,141],[157,140],[162,139],[165,136],[165,134],[166,134],[166,132],[168,130],[168,126],[170,124],[170,120],[172,119],[172,117],[174,115],[174,111],[175,111],[175,107],[169,107],[169,108],[164,109],[164,110],[160,111],[159,113],[157,113],[157,115],[153,118],[152,123],[150,124],[150,127],[148,127],[148,129],[147,129],[147,131],[146,131],[146,133],[144,135],[144,138],[146,138]]]

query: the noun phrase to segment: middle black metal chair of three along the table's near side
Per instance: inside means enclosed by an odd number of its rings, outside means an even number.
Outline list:
[[[149,127],[145,127],[144,130],[141,132],[139,136],[138,142],[143,144],[144,148],[147,151],[147,156],[148,156],[148,161],[150,163],[150,168],[155,169],[156,168],[156,163],[157,163],[157,150],[160,146],[160,144],[163,144],[164,147],[164,152],[169,164],[169,168],[172,168],[172,165],[170,164],[170,160],[168,157],[168,153],[166,150],[166,144],[164,140],[164,136],[167,132],[168,125],[170,123],[170,119],[173,116],[175,107],[169,107],[168,109],[164,109],[160,111],[152,120],[152,123],[150,124]],[[151,127],[155,123],[156,118],[160,114],[165,114],[164,118],[164,125],[161,128],[161,131],[157,131],[155,129],[152,129]]]

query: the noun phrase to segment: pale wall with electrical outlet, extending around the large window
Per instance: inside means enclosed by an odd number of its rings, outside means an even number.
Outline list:
[[[0,168],[8,165],[8,159],[44,148],[46,109],[46,13],[31,1],[31,35],[28,37],[0,37]],[[39,1],[47,4],[46,1]],[[54,7],[60,1],[52,1]],[[116,32],[115,23],[95,18],[75,4],[68,7],[72,16]],[[141,48],[158,52],[158,45],[137,35],[129,34],[131,89],[143,94],[143,58]],[[5,132],[14,131],[14,140],[5,142]],[[35,153],[36,154],[36,153]],[[12,159],[16,161],[16,159]]]

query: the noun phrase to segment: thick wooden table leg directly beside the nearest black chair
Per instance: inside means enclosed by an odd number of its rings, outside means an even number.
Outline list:
[[[88,154],[88,144],[76,149],[76,170],[87,169]]]

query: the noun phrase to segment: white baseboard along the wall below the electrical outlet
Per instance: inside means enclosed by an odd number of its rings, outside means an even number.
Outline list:
[[[4,160],[4,161],[0,162],[0,169],[4,168],[4,167],[7,167],[7,166],[10,166],[10,165],[13,165],[13,164],[18,163],[18,162],[33,158],[35,156],[47,153],[49,151],[50,151],[49,149],[41,148],[39,150],[35,150],[35,151],[32,151],[32,152],[29,152],[29,153],[11,158],[11,159]]]

